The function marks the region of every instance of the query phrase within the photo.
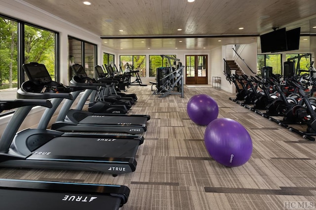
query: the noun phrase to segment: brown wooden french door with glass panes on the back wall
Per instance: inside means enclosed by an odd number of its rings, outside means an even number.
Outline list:
[[[207,84],[207,55],[186,56],[186,84]]]

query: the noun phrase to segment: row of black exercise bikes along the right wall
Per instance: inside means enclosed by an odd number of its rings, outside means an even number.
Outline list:
[[[262,68],[262,77],[225,74],[237,90],[236,98],[231,100],[303,138],[315,141],[316,98],[313,95],[316,90],[316,71],[313,62],[308,72],[299,75],[296,71],[290,71],[281,78],[272,73],[272,67],[265,66]],[[302,130],[294,124],[306,128]]]

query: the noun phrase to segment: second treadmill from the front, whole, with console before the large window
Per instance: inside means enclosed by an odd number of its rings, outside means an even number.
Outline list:
[[[14,112],[0,138],[0,167],[99,171],[113,176],[135,171],[135,156],[139,145],[144,142],[143,136],[47,130],[53,112],[51,116],[41,117],[38,128],[17,132],[34,106],[56,110],[64,98],[72,99],[69,92],[80,88],[52,81],[43,64],[24,64],[23,68],[28,69],[26,73],[30,80],[22,84],[17,98],[45,100],[23,104]]]

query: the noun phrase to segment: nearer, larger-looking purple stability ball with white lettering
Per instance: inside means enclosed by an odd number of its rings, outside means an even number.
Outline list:
[[[252,154],[252,141],[248,131],[237,121],[219,118],[205,129],[206,150],[218,163],[236,167],[245,164]]]

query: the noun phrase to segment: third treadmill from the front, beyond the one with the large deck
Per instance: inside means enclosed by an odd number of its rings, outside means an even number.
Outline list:
[[[30,71],[28,68],[33,67],[25,65],[26,72]],[[44,69],[42,70],[44,71]],[[71,81],[71,84],[72,86],[86,87],[103,85],[102,83],[84,81],[79,83],[74,80]],[[147,131],[147,121],[150,120],[149,115],[103,114],[83,111],[84,102],[90,94],[91,91],[84,91],[76,109],[71,109],[74,100],[66,100],[59,111],[56,122],[52,124],[51,128],[58,131],[122,132],[128,134],[141,134]]]

